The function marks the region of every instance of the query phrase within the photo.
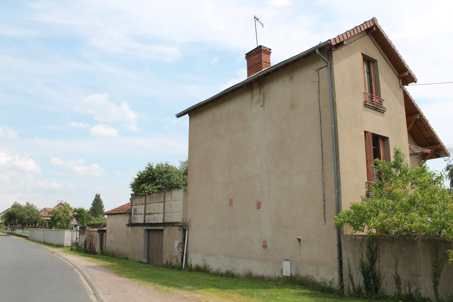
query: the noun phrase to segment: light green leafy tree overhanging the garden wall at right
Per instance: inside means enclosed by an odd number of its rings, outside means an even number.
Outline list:
[[[369,200],[352,202],[350,210],[335,216],[335,226],[349,225],[368,236],[415,235],[440,237],[453,244],[453,201],[443,175],[429,170],[426,163],[411,167],[395,148],[392,162],[375,159],[378,180],[367,187]],[[448,250],[453,264],[453,250]]]

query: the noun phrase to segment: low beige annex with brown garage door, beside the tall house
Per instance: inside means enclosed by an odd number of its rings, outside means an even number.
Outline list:
[[[104,214],[107,253],[150,264],[183,264],[188,225],[185,185],[164,192],[131,194],[129,203]]]

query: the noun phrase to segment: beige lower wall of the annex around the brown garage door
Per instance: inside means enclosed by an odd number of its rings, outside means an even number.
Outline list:
[[[179,225],[126,226],[129,214],[107,216],[106,252],[119,257],[143,261],[147,257],[147,230],[164,230],[163,261],[173,265],[181,263],[184,250],[184,230]]]

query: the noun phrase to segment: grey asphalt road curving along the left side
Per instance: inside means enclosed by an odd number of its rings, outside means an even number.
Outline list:
[[[0,234],[1,302],[90,302],[79,274],[43,248]]]

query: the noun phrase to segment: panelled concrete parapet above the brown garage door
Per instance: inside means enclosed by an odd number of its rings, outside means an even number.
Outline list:
[[[165,196],[165,216],[164,216]],[[146,212],[144,219],[144,209]],[[131,198],[132,223],[187,222],[185,187],[167,192],[136,195]]]

